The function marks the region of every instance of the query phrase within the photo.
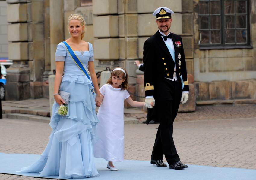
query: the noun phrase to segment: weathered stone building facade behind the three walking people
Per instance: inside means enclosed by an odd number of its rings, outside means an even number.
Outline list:
[[[242,31],[238,28],[227,29],[226,22],[223,22],[227,15],[221,7],[227,6],[229,2],[226,0],[6,0],[8,57],[14,61],[8,69],[6,98],[21,100],[51,96],[48,85],[53,82],[51,77],[54,78],[56,46],[69,37],[67,18],[74,12],[83,14],[87,22],[84,40],[93,44],[96,71],[106,67],[125,67],[131,76],[130,92],[143,96],[143,75],[138,72],[134,60],[142,60],[144,41],[157,31],[153,11],[166,6],[174,11],[171,32],[183,38],[191,89],[190,110],[194,110],[195,102],[213,104],[221,100],[232,103],[235,99],[254,101],[256,0],[243,1],[246,4],[245,15],[240,15],[237,10],[234,16],[237,19],[246,16],[248,20],[243,31],[247,32],[247,44],[226,46],[226,32]],[[202,15],[200,9],[206,8],[205,3],[208,3],[210,12],[206,14],[206,9]],[[219,3],[220,7],[218,17],[222,20],[219,20],[219,32],[211,27],[218,21],[212,22],[210,19],[208,30],[202,29],[202,24],[207,23],[206,16],[212,19],[217,16],[211,14],[216,11],[213,8],[216,5],[212,3]],[[238,5],[234,5],[236,7]],[[216,44],[216,38],[208,41],[209,46],[205,44],[207,31],[212,33],[210,37],[217,32],[214,37],[221,36],[222,44]],[[106,74],[102,73],[101,78],[105,79]]]

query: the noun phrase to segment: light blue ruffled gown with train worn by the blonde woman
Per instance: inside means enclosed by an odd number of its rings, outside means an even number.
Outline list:
[[[93,47],[83,55],[74,51],[85,68],[93,61]],[[69,92],[68,114],[58,115],[59,105],[54,102],[50,126],[52,133],[40,159],[19,173],[40,173],[40,176],[59,178],[85,178],[98,176],[94,158],[93,141],[96,140],[98,118],[91,81],[77,67],[65,45],[59,43],[56,61],[65,61],[64,75],[59,90]]]

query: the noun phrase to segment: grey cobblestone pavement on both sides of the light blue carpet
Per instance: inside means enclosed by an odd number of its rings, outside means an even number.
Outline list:
[[[194,113],[179,113],[174,122],[173,138],[181,161],[256,169],[255,107],[221,105],[199,107]],[[181,116],[185,118],[179,119]],[[125,159],[149,161],[157,127],[125,125]],[[50,132],[47,123],[1,119],[0,152],[41,154]],[[0,180],[4,179],[40,178],[0,174]]]

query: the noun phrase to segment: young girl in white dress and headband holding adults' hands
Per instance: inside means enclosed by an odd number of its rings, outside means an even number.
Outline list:
[[[124,68],[115,68],[107,84],[100,88],[101,100],[98,110],[99,140],[94,146],[94,157],[109,161],[107,168],[118,170],[113,162],[124,160],[124,100],[131,106],[144,106],[144,102],[133,101],[127,92],[128,74]]]

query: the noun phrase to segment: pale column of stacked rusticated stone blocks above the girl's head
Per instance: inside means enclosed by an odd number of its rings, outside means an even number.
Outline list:
[[[93,0],[94,58],[98,70],[119,66],[117,0]]]

